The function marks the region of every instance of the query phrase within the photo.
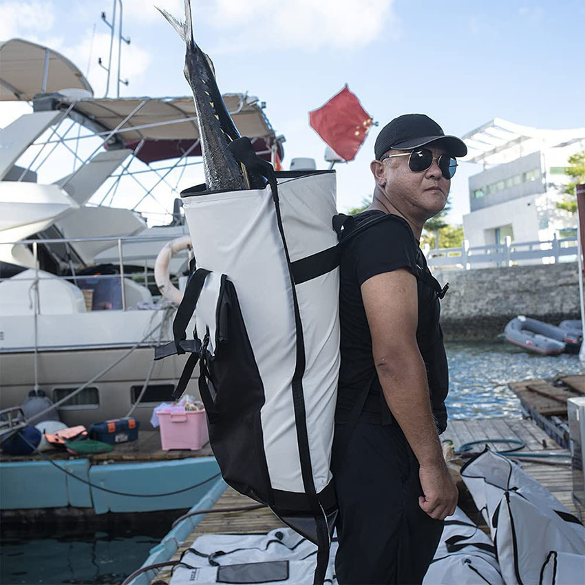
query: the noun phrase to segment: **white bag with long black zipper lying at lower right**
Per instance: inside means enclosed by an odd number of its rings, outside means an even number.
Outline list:
[[[486,449],[461,476],[489,526],[507,585],[539,583],[551,551],[585,554],[585,527],[509,459]]]

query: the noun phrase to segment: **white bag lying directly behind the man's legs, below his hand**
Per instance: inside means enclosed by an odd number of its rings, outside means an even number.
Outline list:
[[[465,512],[456,508],[445,528],[423,585],[504,585],[495,547]]]

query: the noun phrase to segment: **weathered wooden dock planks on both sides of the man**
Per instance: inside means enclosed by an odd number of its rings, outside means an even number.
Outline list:
[[[542,429],[537,427],[530,419],[522,418],[474,418],[460,421],[449,421],[449,429],[441,435],[441,440],[450,440],[458,449],[464,443],[483,439],[511,438],[522,440],[526,444],[524,452],[532,454],[568,454],[555,443]],[[483,445],[476,445],[474,451],[481,451]],[[502,449],[495,445],[494,448]],[[512,445],[513,447],[513,445]],[[555,465],[554,462],[564,465]],[[549,489],[560,502],[572,514],[577,515],[577,509],[571,499],[572,476],[571,467],[567,465],[568,459],[546,459],[538,462],[522,461],[522,469],[530,474],[541,485]],[[214,509],[227,507],[241,507],[255,504],[254,500],[242,496],[235,490],[228,488],[215,503]],[[203,534],[242,534],[242,533],[266,533],[275,528],[284,526],[268,508],[255,509],[244,512],[220,512],[207,514],[189,534],[182,546],[173,555],[172,560],[179,560],[182,553],[190,544]],[[152,584],[162,585],[171,579],[170,569],[162,569],[153,579]]]

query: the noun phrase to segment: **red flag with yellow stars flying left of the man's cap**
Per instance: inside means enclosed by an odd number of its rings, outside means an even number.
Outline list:
[[[372,126],[368,114],[346,83],[325,105],[309,112],[311,127],[343,160],[354,160]]]

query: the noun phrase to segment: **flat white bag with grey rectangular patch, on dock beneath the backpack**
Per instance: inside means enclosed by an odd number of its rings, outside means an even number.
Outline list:
[[[326,582],[332,585],[337,584],[336,552],[337,541],[334,541],[326,572]],[[317,546],[289,528],[262,535],[206,534],[197,538],[182,555],[181,561],[186,566],[174,569],[169,585],[312,583],[316,555]],[[267,580],[271,577],[273,580]]]

